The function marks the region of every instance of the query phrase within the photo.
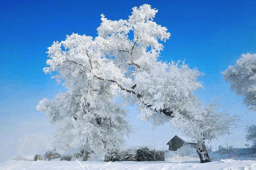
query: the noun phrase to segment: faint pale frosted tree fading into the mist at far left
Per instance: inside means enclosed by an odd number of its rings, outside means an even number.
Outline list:
[[[26,134],[16,142],[18,153],[35,155],[37,152],[51,148],[51,138],[42,134]]]

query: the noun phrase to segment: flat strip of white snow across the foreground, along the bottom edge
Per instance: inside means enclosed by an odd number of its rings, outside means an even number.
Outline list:
[[[180,169],[180,170],[233,170],[233,169],[256,169],[255,160],[233,160],[225,159],[221,161],[209,162],[209,163],[172,163],[168,161],[156,161],[156,162],[134,162],[134,161],[122,161],[122,162],[105,162],[98,161],[81,161],[81,165],[76,161],[23,161],[23,160],[9,160],[0,164],[0,169],[81,169],[81,170],[167,170],[167,169]]]

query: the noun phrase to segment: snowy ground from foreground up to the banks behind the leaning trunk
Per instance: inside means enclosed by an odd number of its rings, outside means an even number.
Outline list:
[[[190,151],[190,152],[188,152]],[[81,169],[81,170],[256,170],[256,157],[252,157],[253,153],[247,148],[222,148],[219,151],[210,152],[213,162],[200,164],[200,160],[195,149],[181,149],[176,152],[168,151],[165,161],[122,161],[122,162],[103,162],[91,161],[24,161],[9,160],[0,164],[0,169]],[[236,159],[236,160],[235,160]]]

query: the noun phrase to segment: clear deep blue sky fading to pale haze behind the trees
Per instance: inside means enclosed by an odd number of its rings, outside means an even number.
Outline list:
[[[158,9],[155,21],[171,33],[164,43],[162,60],[186,59],[190,67],[205,74],[200,78],[204,89],[196,92],[201,100],[220,97],[229,113],[243,115],[241,126],[256,122],[255,113],[245,114],[242,98],[229,91],[220,73],[242,53],[256,52],[256,1],[2,1],[0,155],[14,151],[15,140],[23,134],[52,132],[46,117],[35,108],[42,98],[51,99],[65,90],[42,71],[52,41],[64,40],[73,32],[95,37],[101,13],[112,20],[127,19],[133,6],[144,3]],[[152,132],[151,125],[136,120],[136,109],[129,109],[137,132],[126,140],[128,144],[153,145],[156,137],[157,147],[162,148],[179,134],[170,131],[169,125]],[[244,146],[243,127],[232,132],[234,135],[212,145],[217,148],[227,141],[235,147]]]

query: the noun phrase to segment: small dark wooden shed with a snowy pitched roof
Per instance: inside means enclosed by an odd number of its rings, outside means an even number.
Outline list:
[[[190,145],[192,148],[196,148],[197,143],[193,143],[191,140],[185,137],[178,137],[175,135],[168,143],[169,151],[177,151],[184,144]]]

